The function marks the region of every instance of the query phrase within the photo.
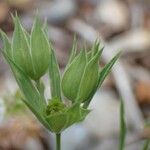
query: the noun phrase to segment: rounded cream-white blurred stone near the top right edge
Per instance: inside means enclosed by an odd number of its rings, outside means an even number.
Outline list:
[[[95,12],[96,19],[109,25],[113,30],[122,30],[128,26],[129,12],[121,1],[106,1],[100,3]]]

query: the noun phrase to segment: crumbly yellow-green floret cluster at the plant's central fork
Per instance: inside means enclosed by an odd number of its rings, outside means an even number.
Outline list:
[[[53,115],[65,111],[65,104],[57,98],[51,99],[46,107],[46,115]]]

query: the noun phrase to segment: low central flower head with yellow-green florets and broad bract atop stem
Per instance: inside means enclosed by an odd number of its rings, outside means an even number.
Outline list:
[[[84,120],[89,112],[81,108],[79,103],[67,107],[59,99],[53,98],[46,108],[46,121],[52,132],[61,133],[72,124]]]

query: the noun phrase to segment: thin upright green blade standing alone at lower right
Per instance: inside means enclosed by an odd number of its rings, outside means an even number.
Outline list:
[[[125,122],[125,110],[124,102],[121,100],[120,104],[120,142],[119,150],[125,149],[125,138],[126,138],[126,122]]]

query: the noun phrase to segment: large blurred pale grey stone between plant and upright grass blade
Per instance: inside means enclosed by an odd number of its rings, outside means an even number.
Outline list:
[[[84,121],[85,127],[97,137],[119,134],[119,101],[110,90],[97,92],[90,104],[93,111]]]

